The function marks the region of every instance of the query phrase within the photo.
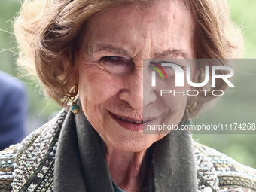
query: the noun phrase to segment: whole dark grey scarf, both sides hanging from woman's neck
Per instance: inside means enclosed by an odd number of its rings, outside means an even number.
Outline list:
[[[69,112],[59,136],[54,190],[114,192],[102,139],[82,112],[75,117]],[[152,166],[151,191],[197,191],[194,148],[187,131],[173,131],[154,143]]]

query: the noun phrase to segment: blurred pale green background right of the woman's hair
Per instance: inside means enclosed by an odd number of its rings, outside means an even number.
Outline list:
[[[230,0],[231,18],[237,26],[242,27],[244,38],[244,58],[256,58],[256,1]],[[256,60],[254,60],[256,62]],[[194,123],[256,123],[256,65],[254,61],[245,66],[236,66],[235,89],[222,96],[214,108],[205,111]],[[256,131],[254,132],[256,133]],[[233,157],[248,166],[256,168],[256,148],[254,134],[205,134],[195,135],[194,139],[209,145],[224,154]]]

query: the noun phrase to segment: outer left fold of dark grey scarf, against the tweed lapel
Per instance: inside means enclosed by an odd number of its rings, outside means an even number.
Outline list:
[[[66,127],[70,129],[66,129]],[[54,167],[55,191],[85,191],[82,170],[75,120],[66,119],[59,136],[58,150],[56,151]]]

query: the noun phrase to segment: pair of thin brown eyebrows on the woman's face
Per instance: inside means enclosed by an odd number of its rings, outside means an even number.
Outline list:
[[[101,52],[102,50],[108,50],[109,52],[114,52],[117,54],[123,54],[126,56],[130,56],[130,52],[121,48],[121,47],[114,47],[111,44],[97,44],[96,45],[96,53],[97,52]],[[162,52],[159,53],[155,53],[154,54],[154,58],[161,58],[161,57],[165,57],[165,56],[177,56],[180,55],[182,56],[184,59],[188,58],[187,53],[182,50],[182,49],[167,49],[167,50],[163,50]]]

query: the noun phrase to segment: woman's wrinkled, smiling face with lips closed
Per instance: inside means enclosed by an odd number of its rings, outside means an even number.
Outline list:
[[[143,59],[193,58],[193,30],[181,1],[121,6],[87,23],[75,64],[79,96],[84,114],[106,145],[142,151],[165,136],[143,134],[143,120],[180,122],[187,96],[162,97],[151,82],[143,93],[143,69],[148,67]],[[185,84],[182,90],[189,88]]]

